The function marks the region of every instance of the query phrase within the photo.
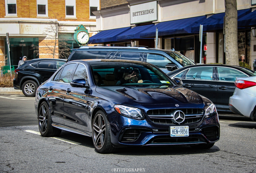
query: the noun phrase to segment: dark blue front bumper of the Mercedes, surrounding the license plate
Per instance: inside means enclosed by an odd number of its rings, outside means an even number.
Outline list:
[[[126,118],[125,118],[126,119]],[[131,123],[135,121],[134,123]],[[128,121],[123,121],[128,122]],[[189,124],[188,137],[171,137],[170,126],[178,125],[157,125],[147,123],[146,120],[131,120],[130,124],[124,125],[118,131],[117,124],[111,122],[111,142],[116,145],[143,146],[143,145],[194,145],[199,143],[215,143],[219,140],[220,126],[218,115],[208,119],[203,118],[197,124]],[[180,125],[184,126],[184,125]]]

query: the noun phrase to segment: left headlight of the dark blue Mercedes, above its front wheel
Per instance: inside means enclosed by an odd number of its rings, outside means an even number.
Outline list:
[[[134,107],[127,107],[124,105],[115,105],[114,108],[119,114],[125,117],[132,118],[132,119],[140,119],[140,120],[144,119],[140,109],[137,109]]]

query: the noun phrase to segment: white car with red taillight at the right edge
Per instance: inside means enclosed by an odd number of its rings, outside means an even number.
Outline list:
[[[256,76],[235,80],[235,91],[229,97],[229,109],[235,114],[256,120]]]

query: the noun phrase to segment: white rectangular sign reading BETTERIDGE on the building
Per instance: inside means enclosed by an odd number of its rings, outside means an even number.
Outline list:
[[[157,20],[157,1],[130,6],[130,23],[142,23]]]

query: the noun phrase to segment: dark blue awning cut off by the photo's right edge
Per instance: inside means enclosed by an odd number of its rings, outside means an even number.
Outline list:
[[[256,10],[237,20],[238,27],[256,26]]]

